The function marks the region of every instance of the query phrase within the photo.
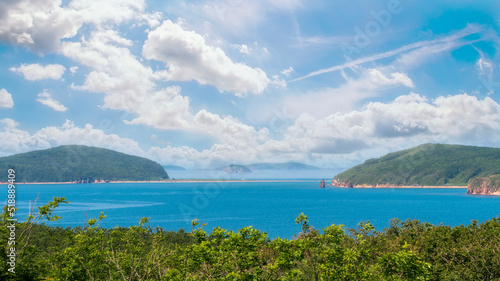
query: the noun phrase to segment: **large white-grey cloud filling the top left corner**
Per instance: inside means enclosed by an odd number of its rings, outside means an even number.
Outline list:
[[[62,39],[73,38],[85,23],[95,26],[136,19],[150,26],[161,14],[145,13],[143,0],[7,0],[0,3],[0,42],[19,45],[36,53],[56,52]],[[109,11],[113,11],[110,13]]]

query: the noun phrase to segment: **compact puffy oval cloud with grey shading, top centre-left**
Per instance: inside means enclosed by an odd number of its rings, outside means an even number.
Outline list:
[[[233,62],[222,49],[207,45],[201,35],[170,20],[149,33],[142,53],[167,65],[168,70],[157,73],[166,80],[195,80],[237,96],[260,94],[270,82],[262,69]]]

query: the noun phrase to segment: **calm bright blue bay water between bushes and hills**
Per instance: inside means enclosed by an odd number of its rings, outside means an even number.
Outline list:
[[[7,197],[7,186],[4,185]],[[419,219],[433,224],[469,224],[500,214],[500,197],[470,196],[465,189],[344,189],[319,188],[309,182],[128,183],[17,185],[18,216],[28,214],[29,201],[39,194],[38,206],[52,197],[71,204],[57,209],[57,225],[81,226],[103,211],[102,226],[136,225],[151,217],[150,226],[168,230],[191,229],[198,218],[206,229],[221,226],[238,230],[253,226],[269,237],[292,238],[300,231],[295,218],[304,212],[310,224],[356,227],[370,220],[378,230],[390,219]]]

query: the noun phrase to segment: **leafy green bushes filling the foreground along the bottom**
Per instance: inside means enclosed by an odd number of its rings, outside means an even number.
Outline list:
[[[268,239],[245,227],[191,233],[138,226],[105,229],[105,216],[85,227],[61,228],[40,207],[16,225],[15,274],[7,271],[8,213],[0,220],[1,280],[494,280],[500,278],[500,219],[469,226],[393,220],[382,232],[369,222],[357,229],[316,230],[300,214],[294,239]]]

